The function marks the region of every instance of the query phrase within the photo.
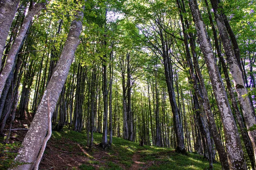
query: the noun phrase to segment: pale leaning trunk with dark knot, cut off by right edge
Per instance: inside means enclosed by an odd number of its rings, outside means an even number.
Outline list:
[[[238,100],[241,105],[244,121],[248,129],[248,135],[250,137],[250,140],[252,141],[254,157],[256,158],[256,129],[254,128],[253,130],[250,130],[250,128],[256,125],[256,117],[253,112],[254,108],[251,105],[249,96],[247,95],[248,93],[244,85],[243,74],[237,62],[232,45],[230,43],[225,23],[223,21],[223,18],[221,17],[221,12],[218,11],[218,9],[221,10],[218,6],[218,0],[211,0],[211,3],[212,8],[214,10],[215,20],[218,26],[218,30],[220,32],[223,47],[225,50],[225,54],[227,56],[227,61],[230,65],[230,72],[233,77],[234,86],[236,88]]]

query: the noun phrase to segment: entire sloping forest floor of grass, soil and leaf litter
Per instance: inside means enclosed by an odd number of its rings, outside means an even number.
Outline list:
[[[15,121],[13,128],[27,128],[29,122]],[[8,128],[8,126],[6,127]],[[26,130],[12,132],[10,144],[0,143],[0,170],[6,169],[21,144]],[[139,146],[138,143],[113,137],[108,150],[102,150],[99,143],[102,134],[94,133],[94,147],[88,151],[87,134],[64,128],[62,132],[52,131],[47,143],[40,170],[207,170],[208,161],[196,153],[188,156],[177,154],[173,149]],[[3,141],[3,138],[0,138]],[[221,164],[213,164],[221,170]]]

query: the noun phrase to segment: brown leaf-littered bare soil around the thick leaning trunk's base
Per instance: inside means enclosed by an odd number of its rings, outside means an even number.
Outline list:
[[[29,128],[31,120],[26,117],[25,120],[15,120],[12,128]],[[9,125],[6,125],[5,129],[9,129]],[[22,142],[27,130],[12,130],[9,143]],[[6,132],[7,133],[7,132]],[[91,157],[93,156],[93,158]],[[81,164],[86,164],[88,161],[97,161],[97,164],[90,164],[95,169],[102,167],[102,164],[111,161],[114,164],[118,164],[122,169],[128,170],[145,170],[154,164],[153,161],[141,162],[140,151],[132,156],[134,162],[130,168],[120,164],[118,160],[111,158],[112,156],[118,157],[118,155],[110,155],[107,151],[100,149],[99,146],[93,147],[93,152],[89,152],[78,143],[74,143],[69,139],[50,139],[47,142],[47,147],[44,152],[44,156],[39,165],[39,170],[79,170]]]

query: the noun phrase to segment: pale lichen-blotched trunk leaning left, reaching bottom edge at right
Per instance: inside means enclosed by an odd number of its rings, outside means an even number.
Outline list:
[[[204,23],[202,21],[201,13],[199,11],[196,0],[189,0],[189,6],[192,11],[193,20],[198,33],[200,48],[206,60],[214,96],[220,111],[221,121],[223,123],[225,133],[226,150],[230,169],[245,170],[246,163],[244,160],[244,153],[241,147],[236,122],[233,118],[224,84],[218,71],[218,66],[215,62],[212,47],[209,43],[207,31],[204,27]]]

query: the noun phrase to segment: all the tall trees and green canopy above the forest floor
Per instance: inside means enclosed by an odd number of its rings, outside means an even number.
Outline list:
[[[48,114],[86,130],[89,150],[98,132],[103,149],[117,136],[256,169],[253,0],[0,2],[0,133],[33,119],[20,169]]]

